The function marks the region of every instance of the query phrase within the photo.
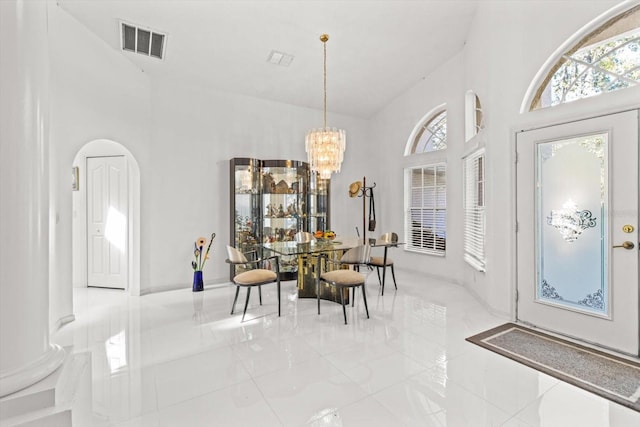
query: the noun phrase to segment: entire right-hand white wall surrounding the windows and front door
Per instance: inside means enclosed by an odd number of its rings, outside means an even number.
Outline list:
[[[403,227],[403,194],[399,175],[403,166],[410,162],[402,158],[404,144],[426,111],[442,102],[450,106],[446,154],[447,256],[398,254],[402,265],[421,269],[425,276],[436,275],[454,283],[463,283],[491,309],[512,314],[515,131],[624,108],[634,103],[634,97],[637,104],[640,97],[636,89],[621,91],[525,115],[519,114],[520,105],[529,83],[547,58],[576,31],[619,3],[479,2],[463,52],[399,96],[372,119],[376,144],[389,150],[386,159],[390,163],[384,167],[394,171],[387,205],[391,209],[389,216],[393,218],[390,227],[400,230]],[[486,144],[486,273],[476,272],[462,261],[460,159],[465,150],[472,148],[463,142],[464,92],[469,89],[480,97],[485,117],[485,130],[479,139]],[[425,279],[425,284],[428,284],[428,279]]]

